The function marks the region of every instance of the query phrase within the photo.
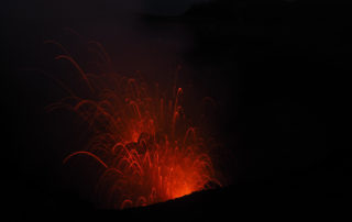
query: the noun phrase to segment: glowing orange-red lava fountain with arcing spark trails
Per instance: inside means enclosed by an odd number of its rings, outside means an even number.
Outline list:
[[[85,73],[69,54],[56,59],[72,63],[95,95],[72,93],[50,107],[77,112],[95,132],[89,145],[64,164],[81,155],[100,163],[105,170],[97,193],[107,208],[147,206],[220,186],[207,138],[186,121],[182,88],[167,95],[139,79]]]

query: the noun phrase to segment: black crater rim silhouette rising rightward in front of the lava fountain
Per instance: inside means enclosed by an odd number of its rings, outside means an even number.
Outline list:
[[[302,188],[305,187],[305,188]],[[109,221],[213,221],[213,220],[263,220],[296,221],[300,218],[334,220],[341,215],[324,214],[321,211],[342,207],[348,197],[342,193],[328,193],[326,188],[293,186],[267,181],[237,185],[222,189],[199,191],[148,207],[122,211],[82,211],[73,215],[79,220]]]

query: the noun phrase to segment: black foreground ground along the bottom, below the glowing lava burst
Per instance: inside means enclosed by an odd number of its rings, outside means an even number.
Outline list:
[[[340,221],[349,218],[351,197],[342,190],[346,188],[309,185],[307,180],[301,186],[255,181],[122,211],[95,209],[70,197],[66,199],[66,208],[36,202],[23,207],[20,215],[11,218],[43,221]],[[67,209],[67,206],[74,208]]]

